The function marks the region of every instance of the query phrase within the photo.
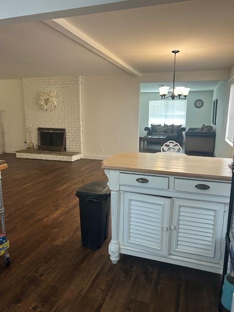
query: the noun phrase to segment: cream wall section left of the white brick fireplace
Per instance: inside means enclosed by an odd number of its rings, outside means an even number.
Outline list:
[[[25,121],[21,79],[0,80],[0,143],[5,153],[25,147]]]

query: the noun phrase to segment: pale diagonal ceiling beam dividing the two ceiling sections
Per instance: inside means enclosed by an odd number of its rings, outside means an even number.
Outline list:
[[[106,59],[109,62],[116,65],[117,67],[123,69],[125,72],[136,77],[140,76],[140,73],[138,73],[136,69],[125,63],[123,60],[117,58],[114,54],[112,54],[110,51],[105,49],[96,41],[94,41],[93,39],[89,38],[87,35],[82,33],[78,28],[74,27],[68,21],[64,19],[57,19],[57,20],[44,20],[44,22],[50,25],[51,27],[55,28],[62,34],[66,35],[67,37],[75,40],[76,42],[83,45],[92,52],[98,54],[103,59]]]

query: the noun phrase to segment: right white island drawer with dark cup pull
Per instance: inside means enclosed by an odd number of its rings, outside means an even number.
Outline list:
[[[175,178],[175,190],[230,196],[231,183]]]

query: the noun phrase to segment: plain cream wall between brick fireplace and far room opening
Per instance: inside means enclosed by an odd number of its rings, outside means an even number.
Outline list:
[[[138,78],[82,77],[83,157],[137,152],[138,111]]]

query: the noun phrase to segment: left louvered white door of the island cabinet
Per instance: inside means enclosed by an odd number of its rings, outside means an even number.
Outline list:
[[[124,245],[166,255],[171,198],[125,192]]]

